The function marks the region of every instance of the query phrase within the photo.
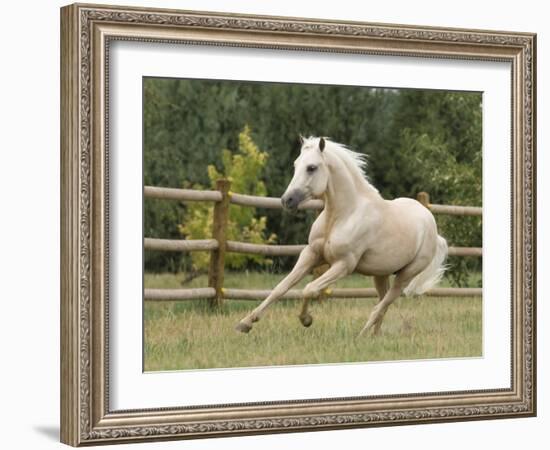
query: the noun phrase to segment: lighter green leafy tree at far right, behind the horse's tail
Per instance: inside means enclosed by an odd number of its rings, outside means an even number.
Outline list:
[[[409,192],[426,191],[433,203],[482,204],[481,95],[408,91],[396,121],[399,158]],[[405,173],[405,170],[401,170]],[[482,246],[480,217],[436,216],[440,233],[453,246]],[[481,269],[478,258],[451,257],[448,276],[466,285],[468,274]]]

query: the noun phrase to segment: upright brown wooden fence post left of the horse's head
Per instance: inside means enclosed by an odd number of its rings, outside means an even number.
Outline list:
[[[227,220],[229,217],[229,180],[216,181],[216,189],[222,194],[222,199],[214,204],[214,220],[212,223],[212,238],[218,241],[218,248],[210,253],[210,268],[208,270],[208,286],[216,290],[216,296],[210,300],[213,307],[221,306],[223,302],[223,272],[225,266],[225,247]]]

